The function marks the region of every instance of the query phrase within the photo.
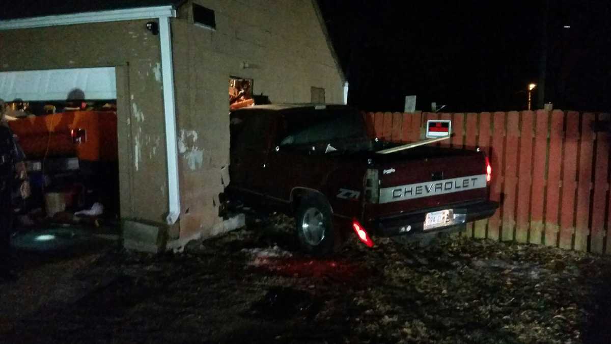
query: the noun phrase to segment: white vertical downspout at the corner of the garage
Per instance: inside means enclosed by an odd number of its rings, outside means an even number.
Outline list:
[[[178,181],[176,104],[174,98],[174,68],[172,64],[172,37],[170,34],[169,17],[159,17],[159,43],[161,44],[163,110],[166,120],[167,197],[170,206],[166,222],[168,225],[174,225],[180,216],[180,184]]]

